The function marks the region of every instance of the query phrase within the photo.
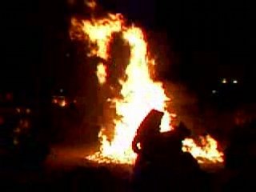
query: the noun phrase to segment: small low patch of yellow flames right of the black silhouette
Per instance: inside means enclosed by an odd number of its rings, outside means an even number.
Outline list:
[[[218,151],[218,143],[210,135],[200,138],[202,146],[198,146],[192,138],[183,140],[182,150],[190,152],[198,163],[223,162],[223,153]]]

